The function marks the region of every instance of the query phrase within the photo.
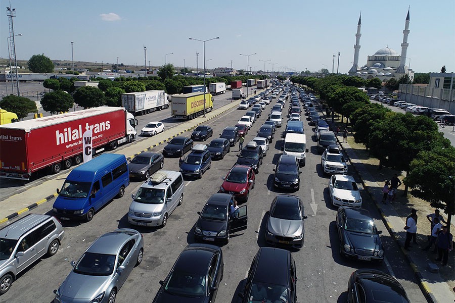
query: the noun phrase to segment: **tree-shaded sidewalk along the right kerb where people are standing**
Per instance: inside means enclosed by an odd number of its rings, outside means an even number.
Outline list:
[[[342,136],[341,134],[339,135],[339,139],[341,139]],[[351,140],[352,136],[348,136],[348,141]],[[384,181],[386,179],[390,180],[392,175],[380,179],[377,172],[378,167],[368,163],[366,157],[358,155],[356,152],[358,149],[351,147],[349,143],[343,143],[341,141],[339,141],[339,143],[348,156],[352,167],[358,173],[363,188],[371,196],[375,206],[383,217],[384,224],[389,233],[395,239],[405,256],[405,259],[413,269],[420,283],[419,286],[425,296],[433,302],[453,302],[455,300],[455,294],[452,290],[455,286],[453,252],[449,253],[447,266],[441,267],[440,263],[435,264],[434,258],[436,258],[436,255],[432,255],[427,251],[422,251],[422,248],[428,244],[426,236],[429,234],[430,230],[430,223],[428,222],[426,215],[432,213],[433,209],[431,209],[429,204],[424,205],[425,203],[416,203],[414,200],[408,201],[407,197],[402,197],[402,190],[398,190],[397,199],[393,204],[383,204],[381,202],[382,187]],[[379,175],[381,174],[379,173]],[[401,189],[403,187],[404,185],[401,185]],[[417,240],[419,244],[414,244],[414,247],[411,248],[410,251],[407,251],[403,248],[406,234],[403,227],[405,226],[405,217],[407,214],[411,213],[412,208],[416,208],[419,215],[417,224]],[[455,230],[455,228],[453,228],[453,222],[451,225],[451,230]],[[430,271],[430,267],[434,269],[434,272]]]

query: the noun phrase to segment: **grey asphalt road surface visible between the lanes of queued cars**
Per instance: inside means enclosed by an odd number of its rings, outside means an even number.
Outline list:
[[[222,95],[221,95],[222,96]],[[273,103],[272,103],[273,104]],[[248,142],[254,137],[269,112],[253,125],[246,136]],[[286,105],[287,109],[287,105]],[[157,112],[161,115],[164,112]],[[208,124],[214,129],[214,136],[224,127],[236,124],[243,110],[233,110],[212,119]],[[149,116],[153,117],[153,114]],[[250,193],[248,206],[248,228],[231,235],[229,244],[222,246],[224,252],[224,278],[220,283],[216,301],[237,302],[239,289],[243,287],[251,261],[261,246],[265,246],[263,226],[264,215],[271,200],[279,194],[272,188],[275,163],[281,153],[280,133],[277,130],[274,141],[264,158],[260,172],[256,176],[256,186]],[[172,134],[172,129],[169,129]],[[379,213],[373,207],[367,194],[363,194],[363,206],[370,210],[385,245],[386,260],[383,264],[370,264],[349,261],[339,255],[339,240],[335,230],[336,209],[331,206],[327,189],[328,177],[321,168],[321,156],[316,153],[315,142],[311,139],[312,128],[305,121],[305,133],[310,152],[306,166],[301,168],[301,185],[298,192],[305,206],[308,219],[305,222],[305,245],[300,250],[292,250],[297,267],[297,295],[300,302],[345,302],[349,275],[358,268],[376,268],[392,273],[405,288],[412,302],[425,302],[413,271],[398,250],[393,238],[387,233]],[[185,135],[189,136],[190,133]],[[160,152],[160,145],[155,151]],[[205,201],[217,192],[222,183],[221,177],[236,161],[236,148],[223,160],[213,161],[201,180],[185,182],[183,205],[169,217],[162,229],[137,228],[144,234],[144,261],[135,268],[120,289],[118,302],[151,302],[159,288],[159,280],[166,277],[179,253],[194,239],[192,231]],[[164,169],[178,170],[178,159],[165,160]],[[353,174],[353,169],[349,168]],[[357,178],[357,181],[358,178]],[[63,180],[62,180],[63,182]],[[98,236],[116,228],[131,227],[127,222],[130,195],[135,193],[141,182],[132,182],[121,199],[114,199],[100,210],[91,222],[65,225],[65,238],[54,257],[42,259],[26,270],[15,281],[8,293],[1,297],[5,302],[51,302],[53,290],[57,289],[71,270],[70,262],[77,260],[82,252]],[[3,189],[2,189],[3,191]],[[33,213],[50,213],[53,201],[44,203]],[[270,273],[273,274],[273,273]]]

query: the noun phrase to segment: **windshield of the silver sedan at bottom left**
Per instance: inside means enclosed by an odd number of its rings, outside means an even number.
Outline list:
[[[109,276],[114,271],[114,266],[115,255],[85,252],[76,266],[74,266],[73,271],[77,274],[88,276]]]

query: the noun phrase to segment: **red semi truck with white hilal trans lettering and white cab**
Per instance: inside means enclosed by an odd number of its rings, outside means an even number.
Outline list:
[[[0,176],[29,180],[44,168],[58,173],[83,161],[82,136],[92,130],[92,154],[136,138],[138,120],[124,108],[98,107],[0,125]]]

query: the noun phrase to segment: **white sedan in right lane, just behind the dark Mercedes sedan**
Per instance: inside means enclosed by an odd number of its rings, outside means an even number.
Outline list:
[[[330,177],[329,194],[334,206],[362,206],[362,197],[352,176],[333,175]]]

